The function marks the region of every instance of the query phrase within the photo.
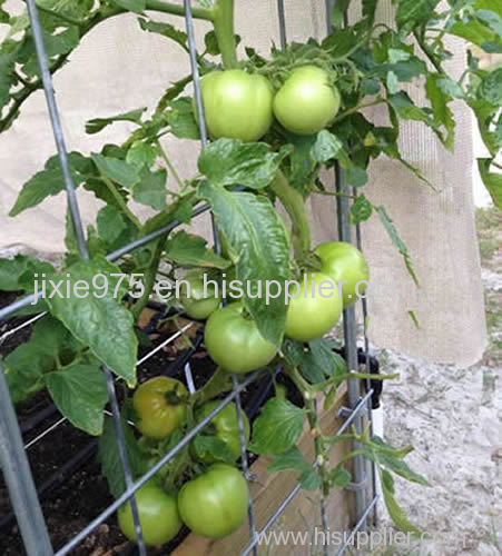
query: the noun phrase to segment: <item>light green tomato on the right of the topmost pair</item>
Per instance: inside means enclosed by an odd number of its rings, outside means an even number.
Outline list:
[[[313,135],[328,126],[339,109],[339,92],[317,66],[294,69],[274,98],[274,115],[291,132]]]

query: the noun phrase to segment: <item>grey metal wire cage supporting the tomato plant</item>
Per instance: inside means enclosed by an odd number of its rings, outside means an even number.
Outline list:
[[[59,160],[62,169],[62,175],[66,185],[68,205],[70,208],[70,214],[72,218],[72,224],[77,237],[78,248],[80,256],[83,259],[88,259],[88,250],[86,246],[86,238],[83,234],[83,228],[80,219],[79,207],[75,193],[73,182],[70,175],[67,150],[65,147],[65,138],[60,125],[59,112],[53,95],[52,89],[52,80],[51,75],[48,68],[47,56],[45,51],[43,40],[42,40],[42,30],[40,27],[38,11],[36,7],[35,0],[26,0],[28,6],[28,14],[31,24],[31,31],[33,34],[33,40],[37,49],[37,57],[41,70],[41,78],[43,83],[43,89],[46,92],[46,99],[48,105],[48,110],[51,119],[51,125],[53,129],[53,135],[56,139],[56,145],[58,149]],[[329,14],[332,12],[334,2],[332,0],[326,0],[326,13]],[[204,119],[204,109],[201,103],[200,96],[200,87],[199,87],[199,75],[196,61],[196,47],[194,40],[194,22],[191,16],[191,2],[190,0],[184,0],[185,8],[185,20],[186,20],[186,30],[188,36],[188,46],[189,46],[189,54],[190,54],[190,64],[191,72],[194,78],[194,87],[195,87],[195,98],[196,106],[198,112],[198,121],[200,129],[200,142],[201,148],[204,148],[207,143],[207,132],[206,125]],[[280,43],[284,47],[286,44],[286,14],[284,0],[277,0],[277,10],[278,10],[278,20],[279,20],[279,37]],[[331,31],[331,21],[329,17],[327,17],[327,29]],[[344,185],[344,176],[341,171],[339,167],[335,167],[335,178],[336,178],[336,187],[338,190],[343,191],[346,186]],[[352,191],[356,195],[355,191]],[[348,221],[348,199],[347,196],[337,196],[337,220],[338,220],[338,237],[342,241],[351,241],[351,225]],[[199,205],[194,210],[194,216],[198,216],[205,211],[209,210],[209,206]],[[145,246],[149,241],[167,236],[173,229],[178,226],[178,222],[173,222],[169,226],[163,227],[131,244],[114,251],[108,255],[108,260],[114,261],[122,257],[124,255],[137,249],[141,246]],[[213,220],[213,231],[215,239],[215,248],[219,249],[217,245],[217,230]],[[356,242],[361,248],[361,230],[356,227]],[[33,300],[33,296],[27,296],[22,299],[19,299],[11,304],[10,306],[0,309],[0,321],[11,317],[14,312],[27,307]],[[366,304],[365,299],[362,300],[363,304],[363,317],[364,322],[366,322]],[[28,326],[32,324],[35,320],[42,318],[43,314],[36,316],[35,318],[23,322],[21,327]],[[356,345],[356,318],[354,308],[350,308],[344,311],[344,338],[345,338],[345,357],[347,360],[347,367],[350,369],[357,368],[357,345]],[[180,334],[186,331],[191,325],[187,325],[180,331],[171,335],[167,338],[161,345],[157,346],[155,349],[145,355],[141,359],[138,360],[138,365],[147,361],[156,351],[161,349],[165,345],[174,341]],[[16,330],[18,330],[18,327]],[[11,330],[9,334],[13,334],[16,330]],[[365,332],[365,330],[364,330]],[[201,337],[198,338],[198,344],[201,341]],[[365,341],[365,354],[366,354],[366,367],[368,368],[368,344],[366,334],[364,334]],[[196,342],[196,346],[198,346]],[[195,350],[195,349],[194,349]],[[191,350],[185,360],[179,361],[180,365],[185,368],[187,384],[190,390],[193,390],[193,380],[190,374],[189,366],[189,356],[194,353]],[[120,461],[124,470],[124,476],[126,479],[126,490],[124,494],[117,498],[114,504],[108,506],[101,514],[99,514],[92,522],[90,522],[80,533],[78,533],[70,542],[68,542],[62,548],[60,548],[57,553],[55,553],[53,547],[51,546],[51,542],[49,538],[49,533],[47,529],[47,524],[41,510],[39,493],[37,493],[37,488],[35,486],[35,481],[31,475],[31,470],[28,463],[28,457],[26,450],[36,441],[41,439],[43,436],[50,434],[53,428],[58,427],[65,418],[56,421],[51,427],[46,429],[41,435],[37,438],[28,443],[23,446],[23,440],[21,436],[21,430],[18,424],[18,419],[16,416],[16,411],[9,395],[9,389],[7,386],[7,381],[3,375],[3,370],[0,365],[0,464],[1,469],[3,471],[3,477],[6,484],[9,489],[9,495],[11,499],[11,504],[18,520],[19,529],[22,536],[22,540],[24,544],[26,552],[29,556],[49,556],[56,554],[57,556],[63,556],[69,554],[73,548],[76,548],[79,543],[81,543],[87,535],[89,535],[96,527],[98,527],[101,523],[104,523],[108,517],[110,517],[124,503],[130,500],[132,517],[135,523],[135,529],[137,535],[137,546],[139,554],[145,556],[147,554],[146,546],[142,539],[141,534],[141,525],[138,518],[138,508],[135,500],[135,493],[145,485],[156,473],[164,467],[166,463],[168,463],[173,457],[178,454],[203,428],[207,426],[207,424],[230,401],[235,401],[237,408],[237,417],[238,417],[238,428],[239,428],[239,440],[240,440],[240,454],[242,454],[242,467],[244,476],[249,484],[249,473],[248,473],[248,459],[246,451],[246,439],[244,434],[244,424],[243,424],[243,408],[240,405],[240,394],[242,391],[250,385],[254,380],[256,380],[258,373],[254,373],[248,375],[245,379],[239,379],[237,376],[233,376],[233,390],[218,404],[218,406],[197,426],[195,426],[181,440],[180,443],[174,447],[168,454],[166,454],[147,474],[145,474],[137,481],[132,480],[131,473],[129,469],[128,457],[126,451],[126,443],[124,438],[124,431],[121,428],[120,421],[120,411],[119,405],[117,400],[115,380],[111,371],[104,366],[104,373],[107,380],[108,396],[111,409],[111,417],[115,424],[118,451],[120,456]],[[371,396],[373,390],[370,388],[370,384],[366,385],[366,394],[364,397],[361,396],[361,384],[357,379],[350,379],[347,384],[348,390],[348,401],[350,408],[345,411],[344,417],[345,421],[342,427],[338,429],[337,435],[342,435],[350,426],[355,426],[355,429],[360,433],[362,430],[363,419],[367,418],[371,421]],[[371,468],[370,471],[370,480],[367,479],[367,469]],[[352,529],[352,532],[346,536],[345,543],[338,549],[338,554],[343,554],[346,548],[351,545],[354,535],[357,530],[364,529],[367,526],[368,516],[373,513],[373,522],[376,524],[376,485],[375,485],[375,467],[374,464],[371,463],[371,467],[367,465],[367,461],[362,457],[357,456],[354,459],[353,466],[353,483],[351,483],[350,488],[352,488],[355,493],[355,502],[356,502],[356,523]],[[249,524],[249,542],[245,549],[242,552],[242,555],[248,554],[257,554],[257,544],[259,535],[265,533],[267,529],[272,527],[272,525],[276,522],[276,519],[280,516],[287,505],[294,499],[296,494],[301,490],[301,485],[296,485],[296,487],[286,496],[286,498],[278,504],[277,509],[273,515],[269,516],[268,520],[260,530],[257,530],[254,518],[254,506],[253,499],[249,499],[248,507],[248,524]],[[370,495],[368,495],[370,493]],[[322,516],[322,525],[324,532],[328,530],[328,524],[326,518],[326,509],[324,504],[321,503],[321,516]],[[327,556],[328,546],[324,546],[324,554]]]

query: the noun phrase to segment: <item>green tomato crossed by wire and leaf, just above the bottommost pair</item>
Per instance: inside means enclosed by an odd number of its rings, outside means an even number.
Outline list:
[[[220,401],[208,401],[204,404],[195,414],[197,423],[207,417]],[[249,440],[249,420],[244,411],[242,411],[244,424],[244,436],[246,443]],[[234,461],[240,457],[240,443],[239,443],[239,427],[237,419],[237,407],[235,404],[226,405],[216,417],[214,417],[209,425],[204,429],[204,435],[215,436],[225,444],[225,447],[234,457]],[[206,464],[214,464],[218,459],[209,454],[199,456],[199,459]]]

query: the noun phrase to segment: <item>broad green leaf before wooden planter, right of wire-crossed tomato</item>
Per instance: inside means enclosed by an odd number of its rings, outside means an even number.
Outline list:
[[[262,408],[253,424],[253,441],[249,449],[255,454],[284,454],[292,449],[303,433],[305,409],[282,398],[272,398]]]

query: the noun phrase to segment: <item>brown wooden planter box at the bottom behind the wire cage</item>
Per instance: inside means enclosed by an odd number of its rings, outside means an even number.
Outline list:
[[[329,411],[321,410],[321,427],[325,434],[335,434],[342,426],[343,419],[336,418],[336,414],[343,405],[347,405],[347,399],[345,389],[341,388],[338,397]],[[318,407],[323,407],[321,399]],[[305,426],[299,448],[308,460],[314,460],[314,443],[308,430],[308,425]],[[329,453],[332,464],[336,464],[350,450],[350,443],[335,444]],[[286,498],[297,484],[295,473],[267,473],[268,463],[269,458],[260,457],[250,467],[250,473],[255,477],[255,480],[250,484],[250,490],[254,500],[257,530],[264,527],[284,498]],[[348,490],[332,490],[332,495],[326,504],[327,524],[331,534],[334,532],[346,532],[353,525],[353,499],[354,495]],[[275,542],[270,542],[267,546],[262,544],[262,546],[258,546],[258,554],[273,554],[274,556],[322,554],[323,537],[321,534],[317,536],[317,546],[315,546],[314,530],[316,527],[319,532],[322,530],[318,493],[299,490],[268,532],[276,532],[277,535],[280,532],[283,532],[283,535],[286,535],[287,532],[292,532],[293,535],[308,532],[309,536],[306,543],[302,545],[297,542],[295,544],[295,537],[292,538],[292,535],[289,535],[287,543],[276,544]],[[174,550],[173,556],[238,556],[248,543],[249,528],[246,520],[233,535],[222,539],[208,539],[191,534]]]

